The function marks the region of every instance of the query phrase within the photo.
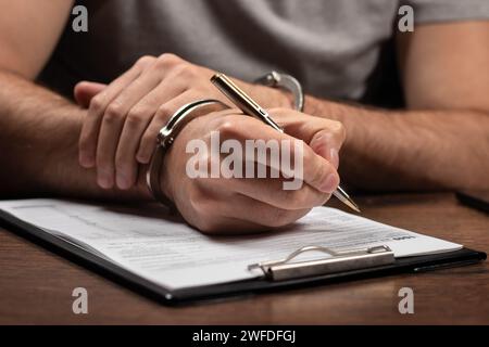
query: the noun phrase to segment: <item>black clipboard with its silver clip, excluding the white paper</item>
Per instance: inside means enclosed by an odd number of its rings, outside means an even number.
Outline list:
[[[387,246],[335,252],[322,246],[308,245],[297,249],[284,259],[250,264],[250,269],[258,269],[263,272],[261,278],[190,288],[168,290],[2,210],[0,210],[0,226],[7,227],[16,234],[118,284],[170,306],[378,278],[397,273],[418,273],[474,265],[487,258],[486,253],[465,247],[448,253],[396,258],[392,250]],[[322,252],[326,256],[325,258],[314,258],[313,260],[293,261],[300,255],[311,250]]]

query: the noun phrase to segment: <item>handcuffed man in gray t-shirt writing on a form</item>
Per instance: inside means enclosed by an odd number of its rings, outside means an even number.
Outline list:
[[[280,107],[271,113],[287,134],[236,110],[185,127],[161,181],[200,230],[278,227],[300,218],[337,187],[340,147],[341,178],[361,189],[489,187],[486,0],[85,1],[84,34],[66,24],[70,1],[3,2],[5,194],[149,198],[141,177],[159,128],[188,102],[222,98],[209,83],[214,69],[234,76],[264,106]],[[414,8],[409,35],[392,25],[402,4]],[[347,104],[372,92],[367,81],[380,47],[393,36],[406,110]],[[303,82],[305,114],[290,111],[287,93],[250,83],[271,69]],[[88,107],[82,110],[36,86],[36,78],[65,95],[84,79],[106,86],[78,85],[75,98]],[[241,141],[256,134],[303,140],[306,184],[284,191],[273,179],[189,179],[185,144],[213,130]]]

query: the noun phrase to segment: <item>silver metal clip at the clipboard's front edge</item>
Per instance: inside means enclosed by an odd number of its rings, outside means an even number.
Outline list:
[[[322,252],[329,257],[292,261],[299,255],[309,252]],[[362,249],[335,252],[323,246],[304,246],[280,260],[269,260],[248,266],[249,270],[260,269],[267,280],[284,281],[313,275],[373,268],[396,261],[393,252],[388,246],[374,246]]]

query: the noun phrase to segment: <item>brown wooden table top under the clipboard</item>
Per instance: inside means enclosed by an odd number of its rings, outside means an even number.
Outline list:
[[[358,198],[366,217],[489,252],[489,217],[452,194]],[[88,314],[72,312],[86,287]],[[398,292],[414,291],[414,314],[400,314]],[[489,262],[164,307],[0,227],[3,324],[489,324]]]

